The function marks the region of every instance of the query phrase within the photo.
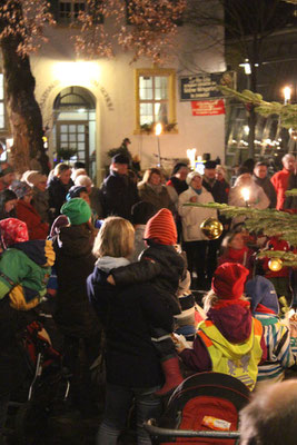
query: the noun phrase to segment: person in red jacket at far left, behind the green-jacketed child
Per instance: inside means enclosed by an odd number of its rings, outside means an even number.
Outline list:
[[[18,180],[13,181],[10,187],[18,197],[17,218],[27,224],[29,239],[46,239],[49,234],[49,225],[42,222],[40,215],[32,206],[33,191],[31,187],[27,182]]]

